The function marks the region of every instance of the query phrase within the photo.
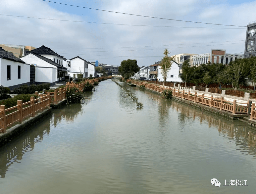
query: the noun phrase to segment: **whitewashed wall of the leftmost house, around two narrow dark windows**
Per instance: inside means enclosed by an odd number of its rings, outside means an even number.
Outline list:
[[[7,80],[7,65],[11,66],[11,79]],[[18,66],[21,66],[21,78],[18,79]],[[30,65],[0,58],[0,85],[12,86],[30,84]]]

